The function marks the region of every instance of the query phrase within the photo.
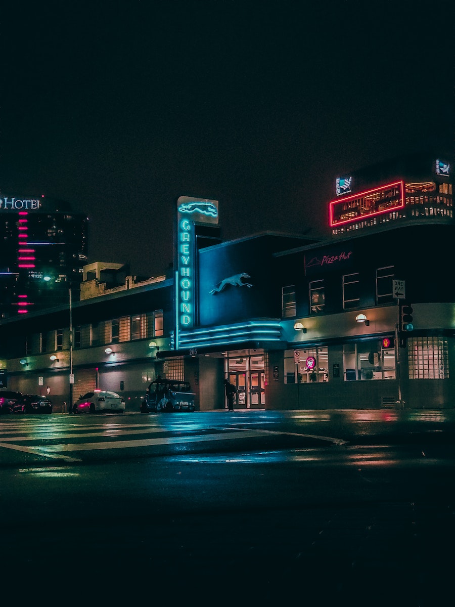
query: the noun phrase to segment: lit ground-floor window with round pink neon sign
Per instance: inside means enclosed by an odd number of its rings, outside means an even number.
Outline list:
[[[312,384],[329,381],[329,354],[327,347],[299,350],[295,362],[295,350],[285,351],[285,384]]]

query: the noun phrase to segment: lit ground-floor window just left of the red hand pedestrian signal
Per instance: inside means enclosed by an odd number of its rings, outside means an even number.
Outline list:
[[[379,339],[343,345],[345,381],[396,379],[395,350]]]

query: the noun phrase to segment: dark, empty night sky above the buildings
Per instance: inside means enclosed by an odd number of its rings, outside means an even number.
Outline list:
[[[12,4],[0,191],[86,212],[89,262],[164,273],[180,195],[223,240],[328,234],[337,175],[453,154],[453,2]]]

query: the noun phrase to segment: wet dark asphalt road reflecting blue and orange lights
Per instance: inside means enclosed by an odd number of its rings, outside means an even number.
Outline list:
[[[21,599],[450,604],[452,412],[7,417],[0,445],[34,449],[0,446]],[[144,424],[167,442],[112,448]]]

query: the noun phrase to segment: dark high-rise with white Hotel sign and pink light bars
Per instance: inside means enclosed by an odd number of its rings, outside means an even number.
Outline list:
[[[86,263],[86,215],[53,198],[1,194],[2,317],[63,303]]]

